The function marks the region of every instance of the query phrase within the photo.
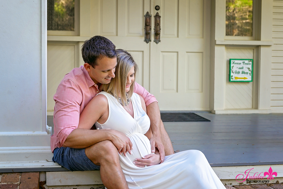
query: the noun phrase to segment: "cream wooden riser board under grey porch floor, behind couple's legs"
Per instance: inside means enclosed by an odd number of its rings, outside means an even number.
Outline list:
[[[264,177],[264,172],[268,172],[269,168],[272,168],[272,172],[276,172],[277,176],[274,179],[268,180],[267,177]],[[218,178],[222,181],[223,184],[227,185],[239,185],[240,182],[236,181],[236,176],[241,174],[244,176],[245,171],[250,170],[249,175],[251,177],[263,177],[267,183],[276,183],[279,181],[283,182],[283,165],[247,165],[247,166],[225,166],[225,167],[212,167],[213,171],[216,173]],[[259,175],[260,174],[260,175]],[[237,177],[239,178],[239,176]],[[240,177],[241,178],[241,177]],[[246,178],[246,176],[244,176]],[[242,181],[244,179],[240,179]],[[250,179],[253,180],[253,179]],[[70,185],[80,185],[80,186],[89,186],[102,184],[100,178],[100,171],[57,171],[57,172],[46,172],[46,185],[47,188],[58,188],[62,186]],[[246,184],[246,180],[244,183]],[[60,186],[60,187],[59,187]],[[84,187],[83,187],[84,188]],[[55,188],[54,188],[55,189]]]

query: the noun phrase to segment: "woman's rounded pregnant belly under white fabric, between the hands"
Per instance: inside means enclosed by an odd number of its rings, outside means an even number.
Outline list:
[[[132,167],[135,166],[133,162],[136,158],[142,158],[145,155],[151,154],[151,146],[149,139],[142,133],[134,133],[129,136],[129,139],[133,144],[132,154],[126,153],[126,157],[124,154],[120,155],[120,161]]]

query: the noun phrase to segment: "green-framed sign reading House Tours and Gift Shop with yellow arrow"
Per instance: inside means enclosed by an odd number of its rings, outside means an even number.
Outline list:
[[[229,82],[252,82],[253,59],[230,59]]]

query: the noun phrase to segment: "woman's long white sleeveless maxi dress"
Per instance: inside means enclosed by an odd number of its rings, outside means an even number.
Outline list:
[[[100,92],[108,99],[109,117],[96,128],[115,129],[129,137],[133,144],[132,155],[120,155],[120,164],[130,189],[225,189],[210,167],[204,154],[198,150],[187,150],[165,156],[164,162],[148,167],[136,167],[136,158],[151,153],[149,139],[144,135],[150,120],[142,109],[141,99],[134,93],[131,101],[134,118],[109,93]],[[98,95],[99,95],[98,94]]]

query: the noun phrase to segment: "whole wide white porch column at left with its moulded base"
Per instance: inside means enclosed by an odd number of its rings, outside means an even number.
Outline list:
[[[0,172],[54,165],[46,125],[46,8],[46,0],[0,4]]]

